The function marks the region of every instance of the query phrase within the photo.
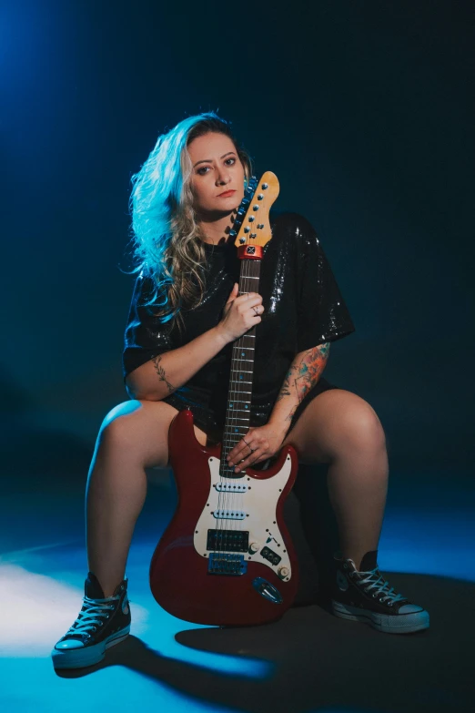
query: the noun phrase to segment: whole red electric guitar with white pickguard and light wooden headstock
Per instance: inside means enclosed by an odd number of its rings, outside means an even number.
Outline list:
[[[251,178],[231,231],[241,260],[239,292],[258,292],[268,211],[278,197],[271,171]],[[150,564],[150,588],[173,616],[197,624],[248,626],[279,619],[298,588],[298,562],[283,505],[298,471],[288,444],[267,470],[235,473],[227,454],[249,430],[256,327],[233,343],[221,443],[197,442],[193,413],[170,424],[169,459],[177,510]]]

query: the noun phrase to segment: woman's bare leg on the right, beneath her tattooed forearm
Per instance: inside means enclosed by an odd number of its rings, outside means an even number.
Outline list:
[[[296,446],[301,463],[329,463],[339,549],[359,567],[367,552],[378,549],[388,494],[388,453],[378,415],[357,394],[331,389],[308,404],[287,443]]]

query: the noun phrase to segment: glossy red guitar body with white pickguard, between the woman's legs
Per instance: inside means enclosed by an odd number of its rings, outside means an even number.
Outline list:
[[[223,478],[221,443],[197,442],[188,409],[171,423],[168,443],[178,504],[150,565],[157,603],[198,624],[279,619],[298,588],[297,557],[282,515],[297,476],[296,450],[286,445],[266,471],[247,468]]]

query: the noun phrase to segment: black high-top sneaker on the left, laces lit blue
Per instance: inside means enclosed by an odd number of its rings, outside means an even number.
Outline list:
[[[83,608],[75,623],[51,652],[55,668],[92,666],[106,655],[106,648],[123,641],[130,631],[127,578],[105,597],[96,575],[89,572]]]

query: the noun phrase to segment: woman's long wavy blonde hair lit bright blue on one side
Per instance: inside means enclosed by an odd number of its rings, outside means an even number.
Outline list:
[[[230,128],[215,112],[187,117],[157,139],[142,168],[132,177],[129,211],[132,216],[133,259],[138,272],[151,278],[153,290],[145,306],[158,307],[161,322],[177,320],[181,311],[201,304],[206,291],[203,267],[204,235],[197,223],[191,189],[192,164],[187,151],[197,137],[210,132],[225,134],[236,148],[244,168],[244,184],[252,175],[252,162]]]

